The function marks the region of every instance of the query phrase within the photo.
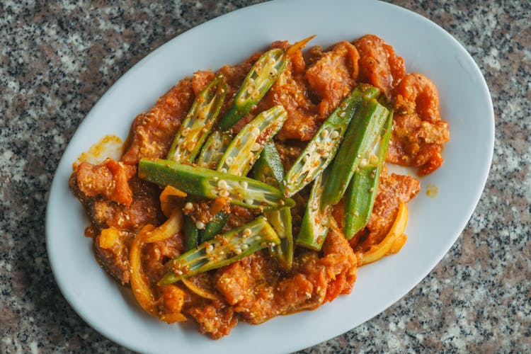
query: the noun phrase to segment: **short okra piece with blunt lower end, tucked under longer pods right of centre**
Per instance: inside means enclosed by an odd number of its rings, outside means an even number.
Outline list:
[[[329,176],[329,169],[326,169],[315,178],[306,211],[302,217],[300,232],[295,240],[298,245],[314,251],[321,250],[330,227],[332,207],[322,204],[324,183]]]

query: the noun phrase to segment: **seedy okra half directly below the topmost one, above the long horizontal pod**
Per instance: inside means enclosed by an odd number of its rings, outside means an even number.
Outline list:
[[[234,137],[219,161],[217,171],[246,176],[264,144],[273,139],[286,119],[287,112],[282,105],[275,105],[256,116]]]

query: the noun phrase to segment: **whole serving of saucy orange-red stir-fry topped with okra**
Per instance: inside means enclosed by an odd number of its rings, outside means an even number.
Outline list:
[[[406,242],[420,183],[386,162],[441,166],[437,89],[375,35],[312,38],[195,72],[135,118],[120,161],[74,165],[98,261],[152,316],[221,338],[350,293]]]

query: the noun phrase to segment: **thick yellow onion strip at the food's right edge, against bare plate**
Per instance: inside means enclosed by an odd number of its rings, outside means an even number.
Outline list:
[[[393,226],[384,237],[382,242],[371,246],[369,251],[362,253],[360,257],[360,265],[378,261],[383,256],[389,255],[389,253],[396,253],[400,251],[407,239],[407,236],[404,234],[407,221],[408,208],[406,207],[406,203],[400,202],[399,211],[396,214],[396,219],[394,219]]]

